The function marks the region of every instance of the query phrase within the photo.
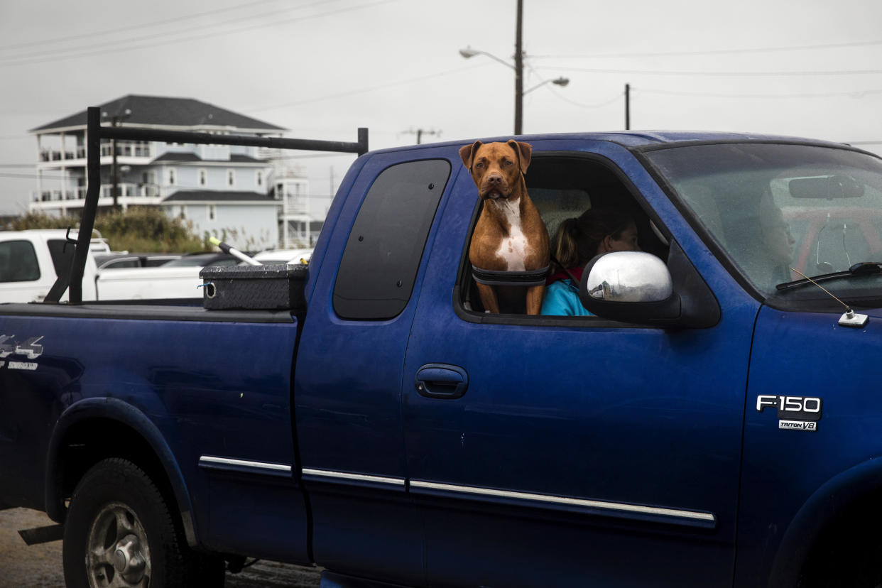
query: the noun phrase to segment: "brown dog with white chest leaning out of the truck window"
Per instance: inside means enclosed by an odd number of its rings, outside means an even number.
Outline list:
[[[533,147],[510,140],[506,143],[475,141],[460,149],[460,157],[472,174],[484,207],[468,258],[475,268],[490,272],[536,272],[549,264],[549,234],[539,211],[527,195],[524,174],[530,165]],[[544,279],[533,280],[526,290],[527,314],[542,309]],[[485,310],[499,312],[497,286],[478,283],[478,294]]]

